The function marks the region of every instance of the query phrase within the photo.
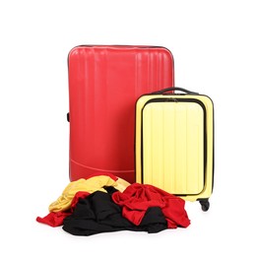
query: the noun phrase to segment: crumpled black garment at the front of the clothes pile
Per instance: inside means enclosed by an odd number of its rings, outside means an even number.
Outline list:
[[[122,209],[116,205],[111,195],[96,191],[85,199],[80,199],[71,216],[64,219],[62,228],[74,235],[92,235],[118,230],[159,232],[167,228],[167,223],[159,207],[150,208],[142,223],[135,225],[122,216]]]

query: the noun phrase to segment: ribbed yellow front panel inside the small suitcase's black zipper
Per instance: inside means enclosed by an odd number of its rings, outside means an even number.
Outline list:
[[[147,103],[142,111],[142,179],[178,195],[204,189],[204,110],[197,102]]]

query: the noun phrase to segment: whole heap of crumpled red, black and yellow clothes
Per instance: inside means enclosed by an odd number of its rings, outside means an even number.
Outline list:
[[[149,184],[130,184],[111,173],[70,182],[36,221],[74,235],[118,230],[156,233],[190,224],[185,201]]]

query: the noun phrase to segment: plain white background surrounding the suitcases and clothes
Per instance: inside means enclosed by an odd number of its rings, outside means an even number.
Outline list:
[[[255,255],[255,1],[0,2],[1,254]],[[169,48],[175,85],[215,103],[209,212],[187,228],[73,236],[35,222],[69,183],[69,50],[79,44]],[[3,251],[4,254],[3,254]]]

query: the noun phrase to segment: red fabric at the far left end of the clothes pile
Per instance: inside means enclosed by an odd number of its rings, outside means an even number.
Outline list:
[[[53,227],[62,225],[64,219],[73,213],[74,208],[76,207],[79,199],[86,198],[89,195],[90,193],[88,192],[84,192],[84,191],[77,192],[72,200],[71,208],[68,211],[50,212],[48,215],[46,215],[43,218],[37,217],[36,222],[40,224],[48,224]]]

